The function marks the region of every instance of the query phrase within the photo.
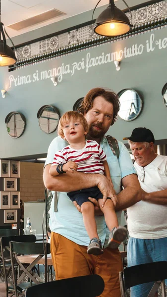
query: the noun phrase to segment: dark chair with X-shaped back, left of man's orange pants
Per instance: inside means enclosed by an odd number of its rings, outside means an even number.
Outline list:
[[[24,235],[25,236],[25,235]],[[35,271],[32,271],[32,268],[38,264],[38,261],[45,256],[45,282],[47,282],[47,254],[50,251],[50,244],[48,243],[24,243],[24,242],[10,242],[10,257],[11,257],[11,267],[13,273],[13,285],[15,291],[15,297],[18,296],[18,292],[23,295],[23,290],[29,286],[33,286],[35,284],[40,284],[42,279],[39,274]],[[19,260],[19,255],[26,254],[31,255],[31,263],[25,267],[23,263]],[[33,257],[32,257],[33,255]],[[14,264],[17,263],[20,267],[20,275],[18,279],[14,273]],[[26,263],[26,261],[25,261]],[[28,276],[29,282],[23,283],[23,278]]]

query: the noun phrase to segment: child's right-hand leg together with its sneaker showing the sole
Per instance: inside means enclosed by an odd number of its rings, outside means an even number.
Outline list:
[[[120,243],[127,237],[127,230],[125,227],[118,226],[114,205],[111,199],[107,199],[104,207],[102,207],[102,199],[99,199],[99,205],[104,213],[106,224],[110,230],[108,247],[117,248]]]

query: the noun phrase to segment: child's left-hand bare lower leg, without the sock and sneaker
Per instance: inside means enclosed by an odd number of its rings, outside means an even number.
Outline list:
[[[89,235],[89,238],[99,238],[97,233],[96,221],[95,221],[95,207],[91,202],[84,202],[81,205],[81,211],[83,215],[83,221],[85,229]]]

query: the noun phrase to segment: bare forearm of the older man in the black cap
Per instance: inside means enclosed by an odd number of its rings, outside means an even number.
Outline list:
[[[142,200],[159,205],[167,205],[167,190],[146,193],[142,190]]]

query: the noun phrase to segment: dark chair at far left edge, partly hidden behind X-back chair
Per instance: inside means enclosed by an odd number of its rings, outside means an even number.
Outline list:
[[[12,230],[12,229],[11,229]],[[13,229],[15,231],[16,229]],[[35,243],[36,237],[35,235],[15,235],[15,236],[3,236],[0,239],[0,247],[1,247],[1,256],[3,263],[3,271],[4,271],[4,280],[5,280],[5,288],[6,288],[6,297],[8,297],[8,293],[14,291],[14,285],[11,279],[9,278],[10,273],[12,271],[11,268],[11,260],[10,260],[10,241],[21,241],[21,242],[32,242]],[[14,274],[17,275],[18,265],[14,264]],[[8,286],[8,283],[10,284]]]

